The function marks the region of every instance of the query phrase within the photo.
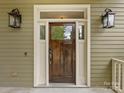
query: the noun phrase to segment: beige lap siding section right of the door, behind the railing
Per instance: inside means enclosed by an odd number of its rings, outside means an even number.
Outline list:
[[[111,58],[124,57],[124,4],[91,6],[91,84],[104,86],[105,82],[111,82]],[[105,8],[116,13],[112,29],[101,28],[100,16]]]

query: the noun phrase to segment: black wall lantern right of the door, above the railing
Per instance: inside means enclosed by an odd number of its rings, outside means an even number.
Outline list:
[[[106,8],[105,14],[102,15],[102,24],[103,28],[112,28],[114,27],[115,13],[111,9]]]

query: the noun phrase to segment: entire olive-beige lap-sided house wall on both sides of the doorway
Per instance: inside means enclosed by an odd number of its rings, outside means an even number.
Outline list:
[[[33,86],[33,5],[56,3],[91,4],[91,85],[111,81],[111,58],[124,57],[123,0],[1,0],[0,86]],[[21,29],[8,27],[7,12],[16,7],[22,13]],[[106,7],[116,13],[115,28],[101,28],[100,16]]]

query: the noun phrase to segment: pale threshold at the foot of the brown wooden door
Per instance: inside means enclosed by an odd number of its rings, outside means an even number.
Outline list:
[[[75,85],[74,83],[50,83],[49,85],[38,85],[39,88],[88,88],[86,85]]]

